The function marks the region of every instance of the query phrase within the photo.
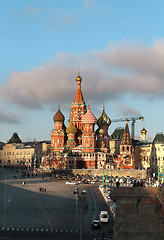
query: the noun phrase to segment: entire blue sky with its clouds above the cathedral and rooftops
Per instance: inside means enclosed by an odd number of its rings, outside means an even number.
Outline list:
[[[96,117],[136,121],[139,138],[163,132],[162,0],[0,0],[0,141],[50,140],[60,104],[68,117],[80,68]],[[111,124],[109,135],[125,122]]]

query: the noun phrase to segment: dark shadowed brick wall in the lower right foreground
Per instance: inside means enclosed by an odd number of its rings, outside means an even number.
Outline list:
[[[113,240],[164,240],[162,189],[114,188],[116,202]]]

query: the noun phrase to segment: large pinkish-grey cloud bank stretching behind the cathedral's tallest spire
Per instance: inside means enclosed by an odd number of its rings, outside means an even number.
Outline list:
[[[29,72],[12,72],[0,94],[7,102],[25,108],[71,104],[80,66],[85,100],[121,98],[128,93],[153,99],[163,97],[163,62],[162,41],[151,47],[120,44],[81,55],[59,53],[54,61]]]

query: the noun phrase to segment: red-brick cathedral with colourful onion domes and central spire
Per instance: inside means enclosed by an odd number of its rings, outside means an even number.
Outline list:
[[[60,107],[53,117],[54,129],[51,131],[52,167],[60,169],[114,167],[113,155],[110,153],[110,136],[108,135],[111,119],[107,116],[104,106],[99,118],[96,118],[91,112],[90,105],[87,108],[81,90],[81,82],[82,78],[78,74],[76,78],[77,90],[70,109],[68,128],[64,124],[65,117]],[[98,128],[95,131],[96,124]],[[124,146],[127,143],[128,146]],[[126,123],[120,149],[121,155],[116,163],[121,163],[122,156],[124,154],[127,156],[130,153],[130,158],[127,157],[126,167],[134,168],[128,123]]]

